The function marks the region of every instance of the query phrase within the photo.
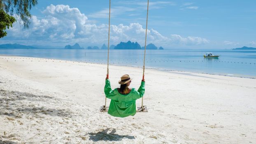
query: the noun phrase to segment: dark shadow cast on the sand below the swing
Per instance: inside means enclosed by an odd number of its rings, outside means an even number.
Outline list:
[[[110,130],[110,128],[107,128],[107,129],[102,130],[102,131],[97,132],[97,133],[89,132],[86,135],[89,135],[89,137],[90,137],[89,140],[92,140],[93,142],[97,142],[97,141],[100,141],[100,140],[103,140],[103,141],[120,141],[123,138],[135,139],[134,136],[115,134],[116,129],[113,129],[111,132],[107,133],[109,130]]]

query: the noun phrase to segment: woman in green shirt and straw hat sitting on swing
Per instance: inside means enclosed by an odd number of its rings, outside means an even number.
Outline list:
[[[106,78],[104,92],[107,98],[111,99],[108,114],[117,117],[134,116],[136,114],[135,101],[142,98],[145,93],[145,81],[142,79],[138,91],[135,88],[128,88],[131,83],[130,76],[125,74],[118,82],[120,88],[111,89],[110,81]]]

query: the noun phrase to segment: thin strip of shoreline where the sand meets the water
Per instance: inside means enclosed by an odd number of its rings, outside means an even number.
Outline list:
[[[31,59],[47,59],[47,60],[62,60],[62,61],[70,61],[70,62],[78,62],[78,63],[91,63],[91,64],[99,64],[99,65],[107,65],[105,63],[92,63],[88,61],[74,61],[74,60],[63,60],[63,59],[50,59],[50,58],[38,58],[38,57],[27,57],[27,56],[13,56],[13,55],[2,55],[0,56],[7,56],[7,57],[20,57],[20,58],[31,58]],[[114,65],[114,66],[121,66],[121,67],[137,67],[137,68],[142,68],[140,66],[136,65],[115,65],[115,64],[109,64],[109,65]],[[147,67],[145,66],[145,69],[151,69],[151,70],[158,70],[162,72],[185,72],[185,73],[193,73],[193,74],[209,74],[209,75],[219,75],[219,76],[225,76],[225,77],[239,77],[239,78],[245,78],[245,79],[256,79],[256,76],[250,76],[250,75],[240,75],[240,74],[211,74],[211,73],[205,73],[205,72],[189,72],[189,71],[182,71],[182,70],[168,70],[168,69],[163,69],[163,68],[157,68],[157,67]]]

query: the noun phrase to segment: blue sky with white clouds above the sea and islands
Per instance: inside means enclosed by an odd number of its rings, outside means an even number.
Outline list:
[[[147,0],[112,0],[110,44],[144,46]],[[148,41],[166,49],[256,47],[256,0],[150,0]],[[108,0],[44,0],[0,43],[81,46],[107,44]]]

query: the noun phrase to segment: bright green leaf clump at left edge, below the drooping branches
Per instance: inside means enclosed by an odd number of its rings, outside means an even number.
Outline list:
[[[7,35],[6,28],[12,27],[16,19],[13,16],[7,14],[3,9],[0,9],[0,38]]]

